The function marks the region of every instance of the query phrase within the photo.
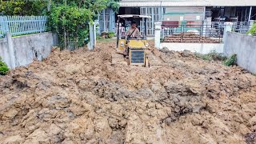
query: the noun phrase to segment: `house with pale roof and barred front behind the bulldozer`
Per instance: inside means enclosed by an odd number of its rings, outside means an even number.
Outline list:
[[[142,14],[151,18],[146,34],[154,34],[154,22],[202,24],[208,22],[249,22],[256,20],[254,0],[120,0],[118,14]],[[117,14],[109,8],[98,16],[99,32],[114,31]],[[123,24],[126,25],[126,22]]]

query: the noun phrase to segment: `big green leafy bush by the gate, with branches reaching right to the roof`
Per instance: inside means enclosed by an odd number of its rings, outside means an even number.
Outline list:
[[[85,38],[89,38],[89,22],[98,18],[98,13],[107,7],[118,10],[118,2],[55,0],[49,13],[48,26],[51,31],[57,32],[61,47],[66,49],[72,43],[77,48],[85,45]]]

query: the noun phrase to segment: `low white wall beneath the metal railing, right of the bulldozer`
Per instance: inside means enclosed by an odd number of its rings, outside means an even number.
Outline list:
[[[178,43],[178,42],[162,42],[162,47],[167,47],[169,50],[183,51],[190,50],[200,54],[208,54],[215,50],[218,53],[223,53],[223,43]]]

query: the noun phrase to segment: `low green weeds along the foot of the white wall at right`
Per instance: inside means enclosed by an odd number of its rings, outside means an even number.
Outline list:
[[[226,57],[222,53],[217,53],[215,50],[212,50],[209,54],[199,54],[195,53],[197,58],[201,58],[206,61],[224,61]]]

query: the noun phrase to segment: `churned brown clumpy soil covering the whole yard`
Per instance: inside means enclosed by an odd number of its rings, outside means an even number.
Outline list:
[[[0,78],[1,143],[255,143],[256,77],[154,50],[111,64],[114,42],[60,51]]]

